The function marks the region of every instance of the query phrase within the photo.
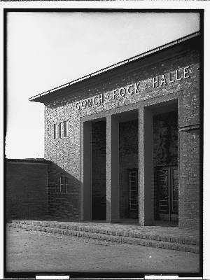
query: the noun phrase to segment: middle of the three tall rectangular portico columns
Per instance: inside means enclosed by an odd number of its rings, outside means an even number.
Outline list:
[[[120,221],[119,120],[106,118],[106,222]]]

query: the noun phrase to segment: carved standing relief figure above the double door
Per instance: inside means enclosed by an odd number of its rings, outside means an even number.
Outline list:
[[[164,121],[160,121],[160,130],[158,132],[158,146],[155,153],[155,158],[164,162],[169,159],[169,127]]]

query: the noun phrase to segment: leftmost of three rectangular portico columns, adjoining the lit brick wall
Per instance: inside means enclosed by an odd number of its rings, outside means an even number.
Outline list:
[[[92,123],[80,123],[80,219],[92,220]]]

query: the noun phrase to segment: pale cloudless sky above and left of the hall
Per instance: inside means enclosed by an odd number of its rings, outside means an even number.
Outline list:
[[[36,94],[200,30],[199,13],[8,13],[6,158],[43,158]]]

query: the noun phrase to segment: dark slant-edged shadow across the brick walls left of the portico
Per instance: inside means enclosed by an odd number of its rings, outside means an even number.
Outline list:
[[[6,165],[6,220],[80,219],[80,181],[64,169],[29,162]]]

